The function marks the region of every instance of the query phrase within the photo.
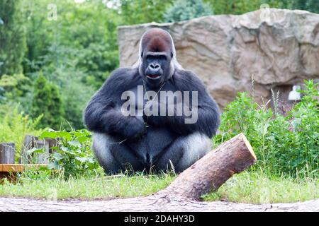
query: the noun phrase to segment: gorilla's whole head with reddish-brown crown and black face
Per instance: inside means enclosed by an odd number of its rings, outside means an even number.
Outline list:
[[[152,88],[158,88],[174,72],[172,38],[168,32],[152,28],[142,37],[140,74]]]

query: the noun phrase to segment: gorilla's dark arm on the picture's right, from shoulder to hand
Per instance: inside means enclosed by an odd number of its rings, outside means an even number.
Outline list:
[[[194,73],[191,73],[191,71],[175,71],[173,77],[173,83],[177,90],[180,90],[181,92],[190,91],[190,93],[191,91],[198,91],[198,119],[194,124],[185,124],[185,119],[189,117],[186,117],[184,114],[182,116],[177,116],[176,106],[174,106],[174,116],[165,118],[167,126],[182,135],[199,131],[211,138],[216,134],[220,124],[218,105],[216,105],[216,102],[207,93],[203,83],[194,75]]]

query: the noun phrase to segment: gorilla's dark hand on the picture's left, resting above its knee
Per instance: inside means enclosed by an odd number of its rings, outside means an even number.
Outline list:
[[[145,125],[142,117],[131,117],[128,120],[125,128],[123,129],[124,138],[128,138],[130,141],[138,141],[145,135]]]

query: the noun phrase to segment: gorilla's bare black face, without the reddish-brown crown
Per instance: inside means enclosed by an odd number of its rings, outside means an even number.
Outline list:
[[[162,85],[170,75],[172,57],[167,52],[146,52],[142,57],[142,76],[152,87]]]

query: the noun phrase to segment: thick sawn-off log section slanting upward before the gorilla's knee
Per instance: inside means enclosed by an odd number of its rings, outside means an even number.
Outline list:
[[[233,174],[247,169],[256,160],[252,146],[240,133],[195,162],[163,192],[200,198],[211,190],[217,190]]]

